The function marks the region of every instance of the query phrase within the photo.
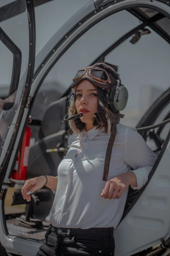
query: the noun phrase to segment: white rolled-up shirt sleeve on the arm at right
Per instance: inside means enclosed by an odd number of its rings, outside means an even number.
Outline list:
[[[149,148],[143,137],[137,132],[134,127],[129,127],[126,134],[126,151],[125,163],[132,167],[136,175],[137,186],[131,188],[141,189],[148,181],[148,175],[157,159],[152,150]]]

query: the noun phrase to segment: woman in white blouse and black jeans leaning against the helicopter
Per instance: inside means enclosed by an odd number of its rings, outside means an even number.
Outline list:
[[[69,150],[58,166],[58,176],[32,178],[22,188],[28,201],[30,193],[44,185],[56,191],[46,218],[50,227],[37,256],[114,255],[113,230],[120,222],[129,185],[140,189],[156,160],[134,127],[119,124],[119,112],[116,115],[108,101],[109,86],[117,84],[117,77],[111,67],[102,67],[96,79],[88,67],[73,80],[68,114],[82,112],[83,116],[69,121],[73,134],[68,137]],[[106,174],[106,150],[114,128],[117,132]]]

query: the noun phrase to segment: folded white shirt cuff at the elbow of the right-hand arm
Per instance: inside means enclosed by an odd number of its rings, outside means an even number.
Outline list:
[[[134,190],[141,189],[145,185],[145,183],[148,181],[148,175],[151,169],[152,169],[151,166],[147,166],[147,167],[141,167],[136,170],[130,171],[136,175],[136,180],[137,180],[137,186],[131,185],[131,188],[133,188]]]

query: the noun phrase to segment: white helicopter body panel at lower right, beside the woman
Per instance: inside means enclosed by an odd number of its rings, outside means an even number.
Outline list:
[[[148,186],[114,230],[115,256],[135,254],[170,236],[169,195],[170,152],[166,149]]]

